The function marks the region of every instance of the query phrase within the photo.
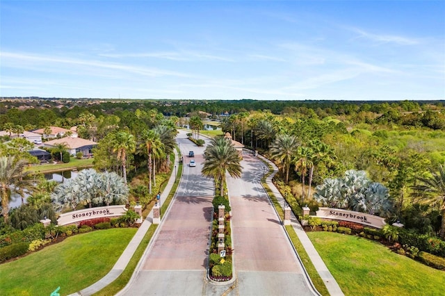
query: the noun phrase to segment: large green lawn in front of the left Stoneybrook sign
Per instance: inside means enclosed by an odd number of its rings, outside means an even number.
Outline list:
[[[1,295],[74,293],[105,276],[127,247],[135,228],[77,234],[16,261],[0,265]]]

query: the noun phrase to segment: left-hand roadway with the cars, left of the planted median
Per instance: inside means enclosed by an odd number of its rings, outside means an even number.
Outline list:
[[[180,131],[177,142],[184,156],[184,174],[177,196],[161,229],[149,245],[136,280],[123,295],[221,295],[227,288],[206,280],[213,181],[201,175],[204,147]],[[189,167],[188,151],[196,167]]]

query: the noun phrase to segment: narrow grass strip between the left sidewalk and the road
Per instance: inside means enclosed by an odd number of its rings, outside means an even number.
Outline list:
[[[127,267],[122,272],[122,274],[120,274],[118,279],[115,279],[113,283],[110,283],[108,286],[106,286],[105,288],[103,288],[102,290],[93,295],[104,295],[104,296],[115,295],[127,285],[129,280],[131,279],[131,275],[133,274],[134,270],[136,269],[136,266],[138,265],[140,258],[144,254],[145,248],[147,248],[148,243],[152,239],[154,231],[156,231],[157,227],[158,227],[157,224],[152,224],[152,226],[149,227],[147,233],[145,233],[143,240],[140,242],[138,248],[131,257]]]

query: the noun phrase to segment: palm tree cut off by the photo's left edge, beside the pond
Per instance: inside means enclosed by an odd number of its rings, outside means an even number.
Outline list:
[[[29,178],[30,172],[24,170],[27,165],[26,159],[16,160],[15,156],[0,157],[0,199],[5,222],[8,222],[11,195],[22,195],[24,190],[33,188],[33,181]]]

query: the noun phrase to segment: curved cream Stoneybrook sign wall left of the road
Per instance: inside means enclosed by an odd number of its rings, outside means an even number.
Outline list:
[[[66,225],[95,218],[123,216],[126,212],[127,208],[125,208],[124,205],[84,208],[83,210],[60,214],[57,219],[57,224]]]

